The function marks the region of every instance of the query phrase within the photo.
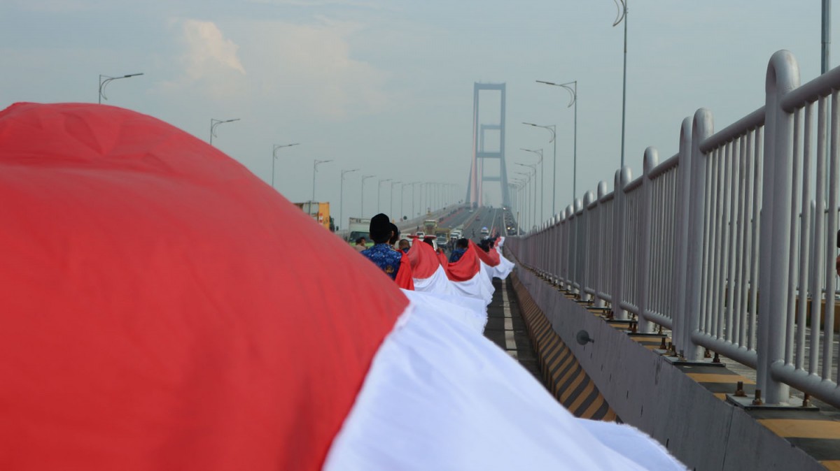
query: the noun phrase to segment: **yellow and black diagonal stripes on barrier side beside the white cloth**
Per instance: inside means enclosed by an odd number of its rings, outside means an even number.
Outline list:
[[[583,370],[571,349],[560,339],[528,290],[512,275],[522,318],[537,352],[545,386],[575,417],[614,421],[615,411],[601,396],[595,382]]]

